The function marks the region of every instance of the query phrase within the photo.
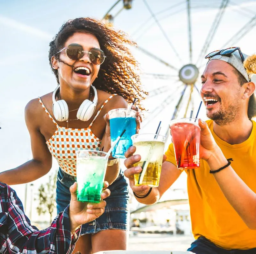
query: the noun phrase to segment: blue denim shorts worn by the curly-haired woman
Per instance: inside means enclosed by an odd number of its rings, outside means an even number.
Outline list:
[[[69,187],[76,181],[76,177],[68,175],[61,168],[57,175],[56,203],[57,213],[64,211],[70,202]],[[128,230],[128,184],[119,174],[117,179],[108,187],[111,195],[105,199],[106,207],[99,218],[82,225],[81,235],[95,234],[100,230],[121,229]]]

